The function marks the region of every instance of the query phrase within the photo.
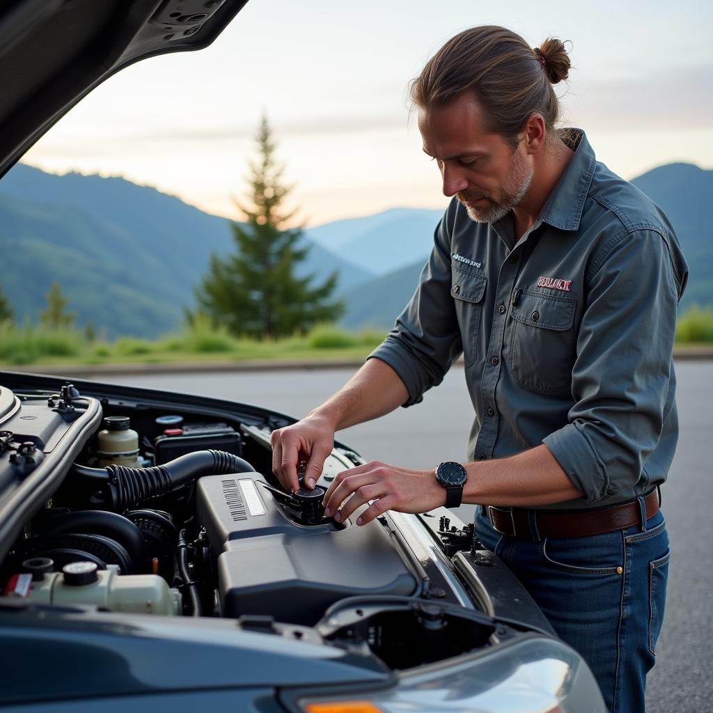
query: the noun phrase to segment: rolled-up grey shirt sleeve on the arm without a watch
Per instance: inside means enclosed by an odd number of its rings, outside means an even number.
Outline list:
[[[436,227],[431,257],[421,271],[414,296],[396,319],[384,342],[369,354],[389,364],[409,391],[403,406],[417,404],[461,354],[458,318],[451,297],[448,214]]]

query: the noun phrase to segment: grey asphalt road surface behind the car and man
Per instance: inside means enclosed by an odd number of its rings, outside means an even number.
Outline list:
[[[649,713],[713,712],[713,467],[707,448],[713,441],[713,361],[680,362],[677,371],[681,437],[663,493],[673,556],[658,662],[649,677]],[[302,416],[348,377],[349,371],[314,370],[125,376],[115,381]],[[423,468],[465,458],[470,421],[463,370],[453,369],[419,406],[354,426],[339,437],[366,458]]]

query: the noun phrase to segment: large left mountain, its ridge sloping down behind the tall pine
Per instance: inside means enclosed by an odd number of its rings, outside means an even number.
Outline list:
[[[155,337],[180,324],[211,252],[232,250],[232,237],[230,221],[154,188],[18,164],[0,182],[0,250],[17,321],[36,320],[57,280],[79,324]],[[340,289],[371,277],[320,245],[300,269],[337,270]]]

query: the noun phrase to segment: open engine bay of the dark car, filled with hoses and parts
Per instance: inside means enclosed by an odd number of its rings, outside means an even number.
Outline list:
[[[288,493],[270,449],[287,416],[32,379],[0,386],[0,615],[232,620],[388,669],[516,635],[487,613],[474,568],[498,587],[509,573],[476,552],[473,525],[451,526],[445,508],[361,527],[361,508],[342,523],[324,516],[329,483],[364,462],[342,443],[314,490]]]

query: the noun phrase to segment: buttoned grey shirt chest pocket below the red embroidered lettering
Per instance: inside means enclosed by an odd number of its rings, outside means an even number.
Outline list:
[[[511,307],[510,370],[530,391],[567,391],[572,386],[577,300],[523,290]]]

